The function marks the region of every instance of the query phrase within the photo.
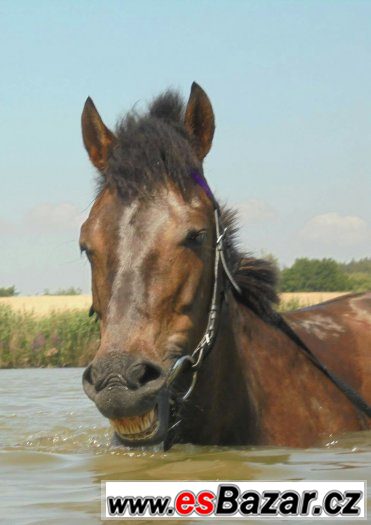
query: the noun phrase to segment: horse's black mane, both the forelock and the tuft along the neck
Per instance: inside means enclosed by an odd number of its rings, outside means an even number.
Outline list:
[[[187,196],[194,186],[191,171],[202,175],[203,171],[183,125],[184,113],[184,102],[174,91],[157,97],[143,115],[128,113],[117,125],[117,144],[105,177],[100,177],[99,190],[112,185],[124,202],[130,202],[138,197],[150,198],[157,188],[171,181]],[[237,249],[233,210],[223,210],[223,223],[229,232],[227,258],[242,289],[242,297],[237,298],[262,319],[275,322],[273,305],[278,297],[273,265]]]

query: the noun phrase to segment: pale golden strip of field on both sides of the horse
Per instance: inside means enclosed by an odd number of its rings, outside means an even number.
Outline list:
[[[281,294],[280,309],[293,309],[328,301],[348,292],[293,292]],[[10,306],[16,312],[45,316],[66,310],[88,310],[90,295],[36,295],[30,297],[0,297],[0,305]]]

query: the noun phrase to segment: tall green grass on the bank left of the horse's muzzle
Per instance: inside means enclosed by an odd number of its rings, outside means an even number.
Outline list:
[[[0,304],[0,368],[85,366],[98,342],[98,324],[85,311],[40,317]]]

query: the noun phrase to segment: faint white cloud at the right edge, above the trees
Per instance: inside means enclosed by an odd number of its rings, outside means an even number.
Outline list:
[[[300,236],[321,244],[353,246],[365,242],[370,229],[361,217],[329,212],[312,217],[300,231]]]

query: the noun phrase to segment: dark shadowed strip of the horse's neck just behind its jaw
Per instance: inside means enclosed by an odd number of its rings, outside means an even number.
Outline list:
[[[217,341],[185,407],[185,441],[239,445],[257,439],[256,417],[235,338],[233,303],[231,295],[223,304]]]

